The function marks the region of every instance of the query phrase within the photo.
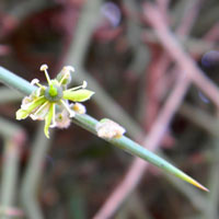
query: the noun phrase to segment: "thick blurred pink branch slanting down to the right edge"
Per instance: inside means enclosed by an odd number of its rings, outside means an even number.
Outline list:
[[[145,3],[143,13],[163,47],[169,51],[173,60],[176,61],[183,72],[186,72],[193,82],[219,107],[219,90],[195,65],[193,59],[186,54],[177,42],[173,33],[163,22],[159,10],[151,3]]]

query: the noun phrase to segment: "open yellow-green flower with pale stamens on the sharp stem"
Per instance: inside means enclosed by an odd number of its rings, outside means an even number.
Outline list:
[[[45,72],[48,85],[42,85],[38,79],[32,80],[38,89],[22,101],[21,108],[16,112],[16,119],[31,117],[34,120],[45,120],[44,132],[49,138],[49,127],[67,128],[70,125],[70,118],[76,113],[85,113],[85,107],[77,102],[88,101],[93,91],[87,90],[87,82],[82,85],[67,89],[71,81],[71,71],[73,67],[64,67],[56,79],[50,79],[47,72],[47,65],[43,65],[41,70]],[[69,101],[74,103],[69,103]]]

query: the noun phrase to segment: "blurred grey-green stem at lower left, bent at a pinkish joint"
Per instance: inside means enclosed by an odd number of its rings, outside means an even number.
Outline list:
[[[11,218],[16,197],[19,161],[21,146],[25,139],[22,128],[3,118],[0,118],[0,135],[4,138],[3,163],[1,175],[0,217]],[[21,210],[15,210],[16,216],[22,215]]]

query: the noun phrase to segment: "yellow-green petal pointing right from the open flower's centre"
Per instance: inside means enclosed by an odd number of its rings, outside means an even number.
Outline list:
[[[89,100],[94,94],[93,91],[81,89],[78,91],[64,91],[64,99],[73,101],[73,102],[83,102]]]

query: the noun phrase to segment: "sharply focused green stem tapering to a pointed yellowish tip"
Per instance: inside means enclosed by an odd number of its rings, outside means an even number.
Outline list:
[[[2,74],[5,74],[7,70],[1,71],[2,68],[0,68],[0,80],[4,79],[4,83],[8,84],[8,81],[10,82],[10,85],[14,89],[18,89],[21,91],[20,87],[22,87],[22,91],[30,95],[34,90],[35,87],[33,87],[32,84],[30,84],[27,81],[25,80],[19,80],[19,77],[15,77],[13,73],[10,72],[11,78],[7,78],[3,77]],[[20,81],[20,83],[18,83],[18,80]],[[97,120],[92,118],[89,115],[77,115],[73,119],[73,123],[78,124],[79,126],[85,128],[87,130],[96,134],[95,131],[95,126],[97,124]],[[137,155],[139,158],[142,158],[146,161],[149,161],[150,163],[154,164],[155,166],[164,170],[168,173],[171,173],[204,191],[208,191],[207,188],[205,188],[204,186],[201,186],[199,183],[197,183],[196,181],[194,181],[192,177],[189,177],[188,175],[186,175],[185,173],[183,173],[181,170],[176,169],[175,166],[173,166],[172,164],[170,164],[169,162],[166,162],[165,160],[163,160],[162,158],[155,155],[154,153],[150,152],[149,150],[145,149],[143,147],[141,147],[139,143],[132,141],[131,139],[123,136],[118,139],[105,139],[108,142],[111,142],[112,145],[134,154]]]

